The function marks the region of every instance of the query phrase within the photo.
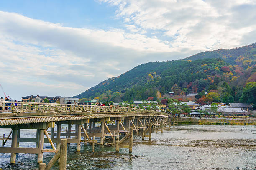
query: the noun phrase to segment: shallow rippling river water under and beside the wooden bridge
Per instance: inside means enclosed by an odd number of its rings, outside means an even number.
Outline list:
[[[10,130],[0,129],[8,135]],[[22,130],[20,137],[36,137],[35,130]],[[133,137],[133,153],[120,148],[81,144],[81,153],[76,153],[76,144],[68,145],[67,169],[113,169],[113,170],[256,170],[256,127],[229,125],[179,125],[164,133],[152,133],[152,141]],[[5,146],[10,146],[10,141]],[[20,143],[20,147],[34,147],[34,143]],[[48,143],[44,148],[51,148]],[[135,155],[138,155],[135,157]],[[48,163],[53,153],[44,153]],[[20,163],[24,165],[20,165]],[[10,154],[0,153],[0,168],[3,170],[37,169],[35,154],[17,154],[16,165],[10,165]],[[57,170],[55,165],[52,169]]]

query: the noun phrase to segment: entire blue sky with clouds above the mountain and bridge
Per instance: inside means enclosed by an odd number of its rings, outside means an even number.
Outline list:
[[[142,63],[252,44],[255,21],[256,0],[3,0],[0,83],[15,100],[70,97]]]

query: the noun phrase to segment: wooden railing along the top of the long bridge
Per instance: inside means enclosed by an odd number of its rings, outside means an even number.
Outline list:
[[[109,107],[96,105],[74,105],[59,103],[36,103],[36,102],[0,102],[0,112],[25,113],[25,112],[100,112],[100,113],[119,113],[119,112],[140,112],[151,114],[165,114],[155,110],[145,110],[130,107]],[[39,115],[39,114],[38,114]]]

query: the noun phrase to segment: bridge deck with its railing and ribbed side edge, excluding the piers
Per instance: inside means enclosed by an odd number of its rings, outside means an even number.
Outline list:
[[[133,116],[167,117],[164,112],[128,107],[34,102],[0,103],[0,126]]]

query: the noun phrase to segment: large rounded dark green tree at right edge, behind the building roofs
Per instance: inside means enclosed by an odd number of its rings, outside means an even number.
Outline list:
[[[256,82],[248,82],[243,88],[241,102],[251,103],[256,108]]]

